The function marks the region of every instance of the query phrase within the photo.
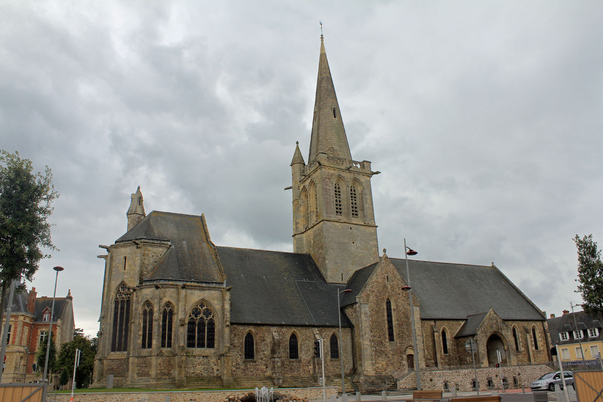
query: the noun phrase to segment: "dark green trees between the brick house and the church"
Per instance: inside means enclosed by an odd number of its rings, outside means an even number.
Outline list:
[[[75,350],[81,350],[80,365],[75,369],[75,385],[77,388],[87,388],[92,379],[97,343],[95,339],[77,335],[73,341],[63,344],[61,352],[58,354],[57,365],[62,370],[61,375],[63,375],[63,372],[68,372],[68,378],[71,378],[74,370]]]

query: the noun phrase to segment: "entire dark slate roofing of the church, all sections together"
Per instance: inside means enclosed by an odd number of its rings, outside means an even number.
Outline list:
[[[377,263],[347,284],[327,283],[309,254],[215,247],[204,216],[153,211],[116,243],[169,243],[144,281],[178,280],[232,286],[230,319],[240,324],[337,326],[341,306],[356,302]],[[406,280],[403,259],[390,259]],[[495,266],[409,260],[412,291],[422,319],[468,319],[493,309],[506,320],[545,321],[534,304]],[[345,314],[341,324],[350,326]],[[469,328],[469,327],[467,327]]]

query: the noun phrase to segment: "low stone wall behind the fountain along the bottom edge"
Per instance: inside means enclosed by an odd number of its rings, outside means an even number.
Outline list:
[[[237,389],[233,391],[160,391],[160,392],[90,392],[89,394],[74,394],[74,402],[224,402],[243,397],[253,389]],[[327,398],[336,395],[337,387],[325,387]],[[323,388],[275,388],[274,392],[299,400],[322,399]],[[49,400],[68,402],[71,394],[49,395]]]

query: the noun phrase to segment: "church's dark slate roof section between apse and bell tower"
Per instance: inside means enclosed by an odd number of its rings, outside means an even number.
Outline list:
[[[216,247],[239,324],[337,326],[337,291],[309,254]],[[351,326],[341,314],[341,325]]]

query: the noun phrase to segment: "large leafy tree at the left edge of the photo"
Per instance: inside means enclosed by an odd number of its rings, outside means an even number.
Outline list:
[[[48,166],[43,174],[33,173],[29,159],[21,159],[18,152],[0,150],[0,312],[4,311],[10,283],[33,280],[40,260],[50,257],[40,248],[57,250],[46,221],[55,198],[58,193]]]

